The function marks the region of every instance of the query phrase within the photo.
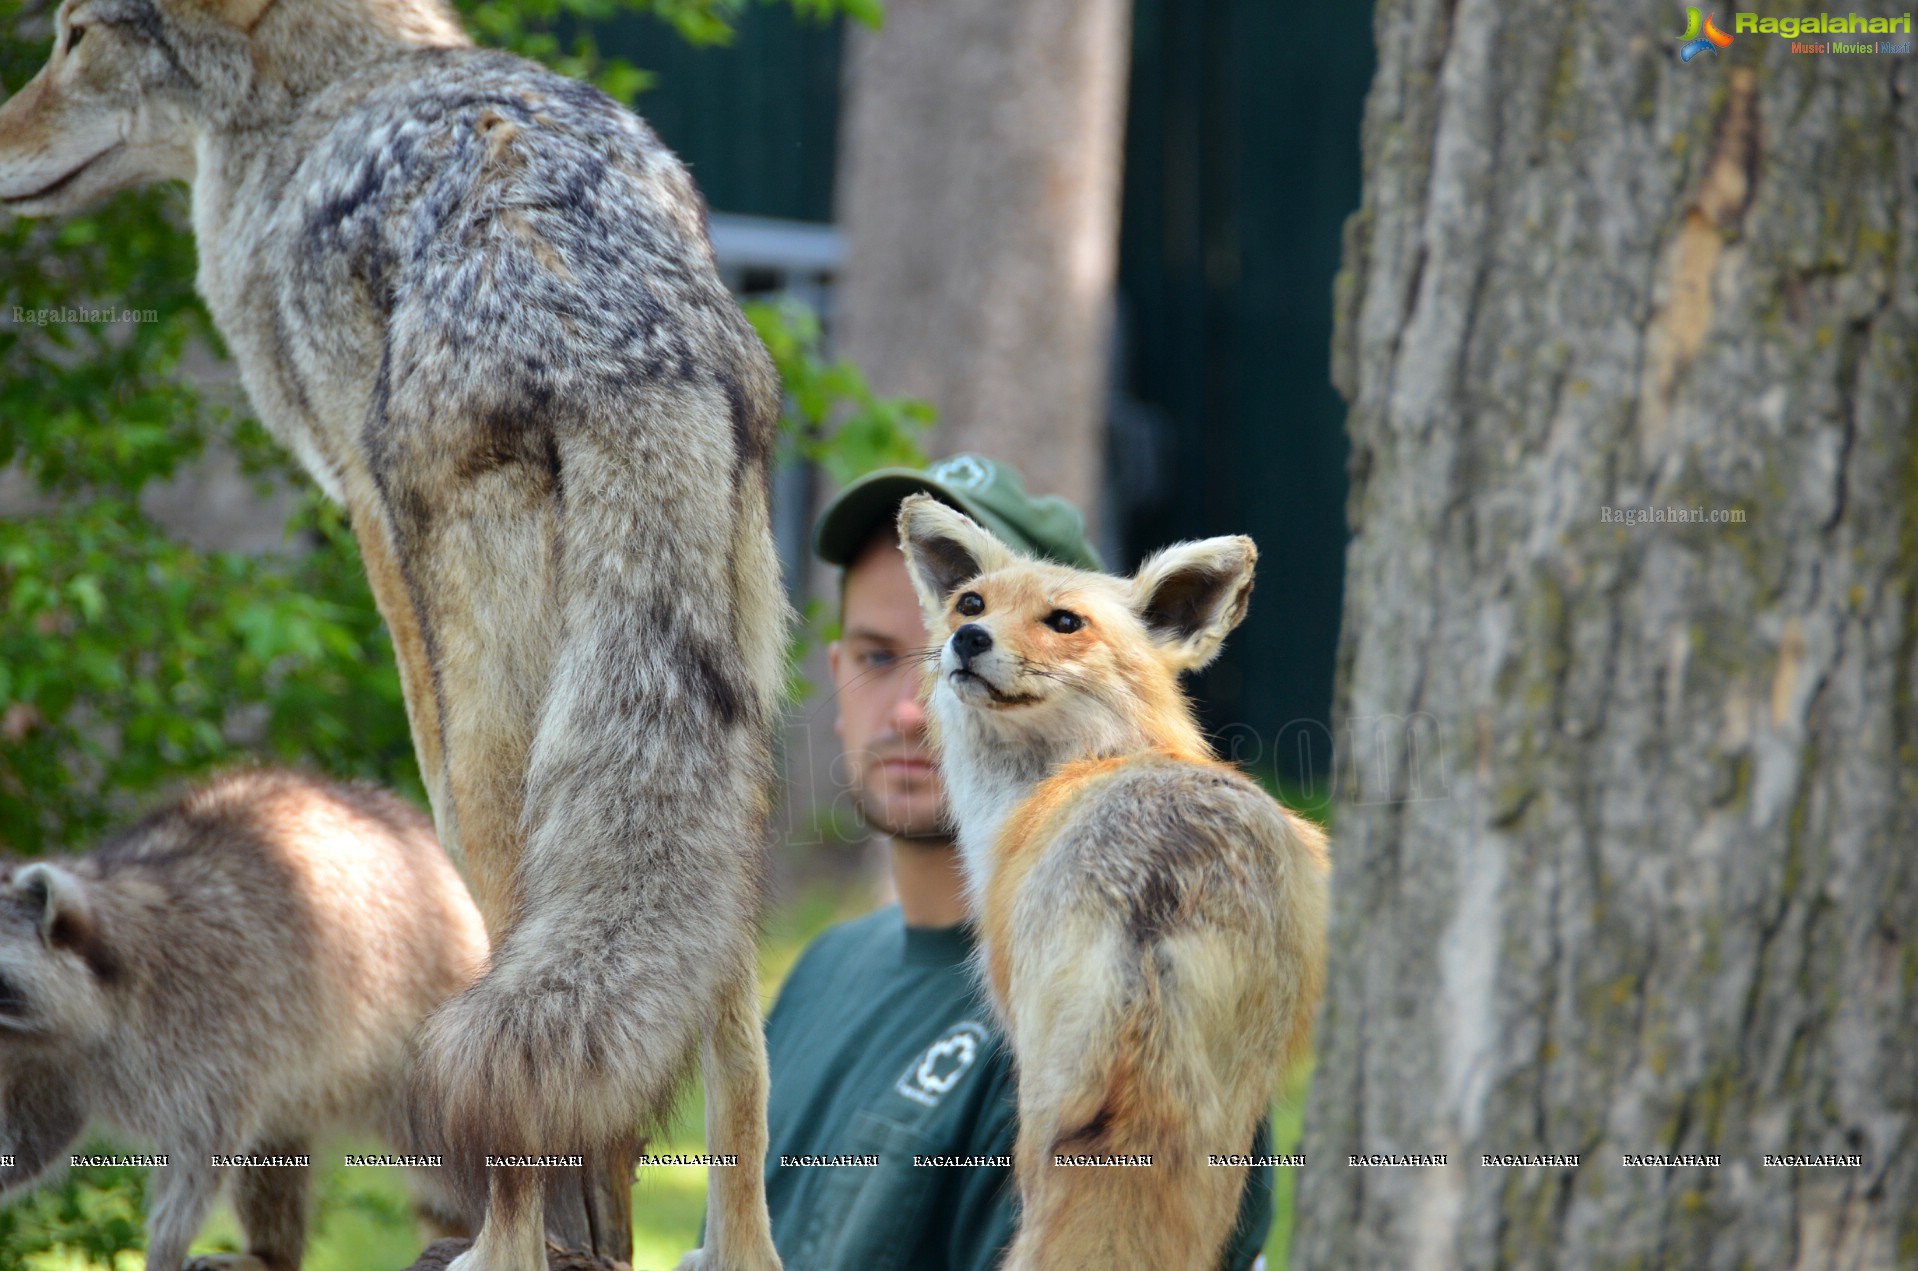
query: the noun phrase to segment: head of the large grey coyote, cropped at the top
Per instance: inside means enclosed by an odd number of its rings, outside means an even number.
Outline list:
[[[192,180],[203,128],[284,113],[395,46],[458,44],[441,0],[65,0],[52,58],[0,105],[0,209]]]

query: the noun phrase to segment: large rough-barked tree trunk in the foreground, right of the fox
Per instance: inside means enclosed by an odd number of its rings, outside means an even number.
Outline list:
[[[1918,1265],[1918,61],[1680,27],[1379,6],[1295,1267]]]

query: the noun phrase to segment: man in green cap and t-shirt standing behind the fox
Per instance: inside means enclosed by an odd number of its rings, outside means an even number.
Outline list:
[[[1017,1089],[974,991],[965,880],[919,705],[926,636],[894,518],[924,491],[1009,544],[1103,567],[1063,498],[1032,498],[1003,464],[961,454],[848,485],[813,548],[844,567],[842,635],[827,650],[852,794],[890,847],[900,895],[823,934],[765,1024],[771,1058],[767,1204],[792,1271],[988,1271],[1017,1223]],[[1266,1152],[1260,1129],[1252,1150]],[[1254,1169],[1226,1267],[1251,1267],[1272,1225]]]

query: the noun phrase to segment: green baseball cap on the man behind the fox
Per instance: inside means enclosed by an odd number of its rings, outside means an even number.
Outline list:
[[[995,533],[1007,546],[1061,566],[1105,569],[1086,541],[1086,518],[1064,498],[1034,498],[1005,464],[982,454],[953,454],[924,472],[880,468],[842,489],[813,527],[813,552],[829,566],[850,566],[873,531],[890,523],[907,495],[932,495]]]

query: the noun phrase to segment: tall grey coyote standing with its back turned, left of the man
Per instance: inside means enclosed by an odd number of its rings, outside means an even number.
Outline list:
[[[487,1198],[456,1265],[547,1265],[541,1169],[483,1154],[616,1152],[704,1035],[738,1167],[687,1265],[777,1267],[754,930],[779,380],[685,167],[598,90],[472,48],[441,0],[63,0],[54,36],[0,107],[0,205],[192,182],[199,291],[351,514],[493,936],[416,1070]]]

